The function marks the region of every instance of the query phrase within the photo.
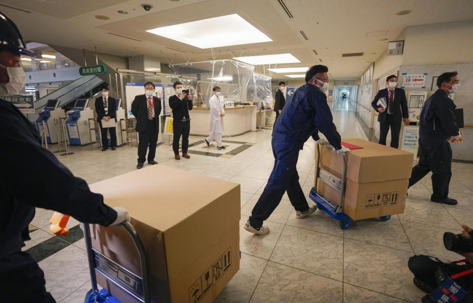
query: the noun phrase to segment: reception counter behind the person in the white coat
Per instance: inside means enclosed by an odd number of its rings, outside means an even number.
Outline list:
[[[256,130],[256,105],[241,107],[226,107],[225,131],[223,137],[232,137]],[[210,109],[208,107],[194,107],[189,111],[191,117],[191,135],[208,136],[210,125]]]

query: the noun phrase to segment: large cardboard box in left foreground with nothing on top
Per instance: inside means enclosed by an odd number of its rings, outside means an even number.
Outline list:
[[[111,207],[126,208],[149,258],[151,299],[211,303],[239,269],[240,185],[153,165],[90,185]],[[141,275],[123,228],[91,225],[92,246]],[[97,274],[120,302],[137,302]]]

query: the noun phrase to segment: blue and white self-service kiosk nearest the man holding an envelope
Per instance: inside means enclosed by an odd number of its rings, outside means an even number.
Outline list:
[[[94,112],[87,108],[89,99],[77,99],[72,110],[68,111],[66,129],[68,130],[70,145],[84,145],[91,143],[89,132],[89,119],[94,118]],[[92,137],[96,141],[95,136]]]

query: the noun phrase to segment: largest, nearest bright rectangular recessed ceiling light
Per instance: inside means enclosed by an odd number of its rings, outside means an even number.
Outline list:
[[[272,41],[237,14],[146,31],[202,49]]]

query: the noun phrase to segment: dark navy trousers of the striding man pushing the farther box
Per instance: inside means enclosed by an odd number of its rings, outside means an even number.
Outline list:
[[[270,179],[250,216],[250,224],[255,228],[263,226],[263,221],[274,212],[286,191],[296,211],[305,212],[309,209],[296,170],[299,151],[289,155],[284,153],[284,157],[278,158],[273,147],[273,154],[276,160]]]

